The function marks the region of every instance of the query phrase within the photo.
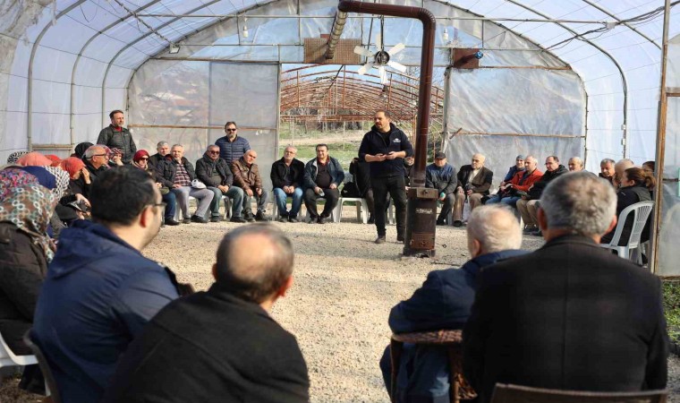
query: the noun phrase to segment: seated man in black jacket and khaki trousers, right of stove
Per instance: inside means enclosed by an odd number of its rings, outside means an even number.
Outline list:
[[[463,205],[470,203],[470,210],[481,204],[481,198],[489,194],[494,173],[484,167],[484,156],[472,156],[471,165],[463,165],[458,171],[458,186],[455,188],[454,227],[463,225]]]

